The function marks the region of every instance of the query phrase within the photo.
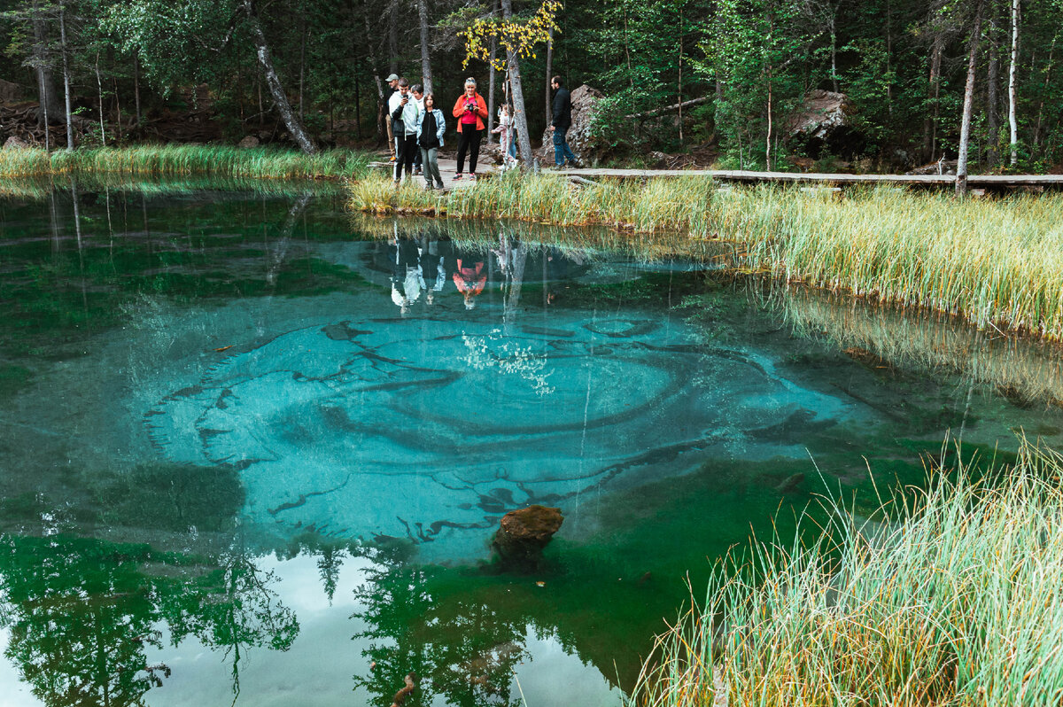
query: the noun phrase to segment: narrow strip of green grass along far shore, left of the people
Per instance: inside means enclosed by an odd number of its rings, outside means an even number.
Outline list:
[[[132,176],[216,175],[229,179],[359,179],[371,155],[326,150],[306,155],[294,150],[212,145],[147,145],[78,150],[0,151],[0,178],[109,173]]]

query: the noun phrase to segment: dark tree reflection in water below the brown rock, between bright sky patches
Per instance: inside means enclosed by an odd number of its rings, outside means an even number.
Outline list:
[[[362,655],[372,669],[355,675],[355,686],[386,707],[414,672],[420,683],[402,707],[432,704],[437,694],[462,707],[517,704],[509,686],[526,656],[525,622],[478,602],[435,595],[438,571],[395,558],[367,571],[368,582],[355,589],[365,608],[352,618],[366,623],[354,638],[370,640]]]

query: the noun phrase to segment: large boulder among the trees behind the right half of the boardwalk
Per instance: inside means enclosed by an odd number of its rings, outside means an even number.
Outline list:
[[[805,148],[810,157],[822,152],[851,158],[863,147],[863,136],[853,125],[856,108],[845,94],[815,89],[787,121],[791,142]]]

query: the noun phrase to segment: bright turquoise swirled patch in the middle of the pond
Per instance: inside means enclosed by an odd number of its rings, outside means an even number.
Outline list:
[[[170,458],[240,470],[258,522],[461,561],[513,508],[578,518],[593,512],[580,494],[706,455],[799,453],[780,421],[870,415],[691,334],[639,312],[555,312],[505,335],[483,319],[322,321],[238,346],[146,421]]]

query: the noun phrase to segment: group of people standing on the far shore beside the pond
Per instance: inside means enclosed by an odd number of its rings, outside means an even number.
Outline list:
[[[435,96],[425,92],[420,84],[410,85],[408,80],[394,73],[388,77],[388,84],[392,89],[388,98],[388,144],[394,164],[395,185],[402,183],[405,173],[407,180],[418,174],[423,175],[426,189],[443,188],[443,178],[439,172],[439,149],[443,147],[446,118],[442,110],[436,106]],[[576,157],[566,141],[566,133],[572,125],[569,91],[560,77],[554,77],[551,86],[555,90],[550,125],[554,135],[554,162],[558,167],[566,163],[576,166]],[[451,115],[457,119],[458,132],[454,180],[465,179],[466,157],[469,159],[469,179],[475,180],[479,144],[490,117],[487,102],[476,90],[475,79],[466,79],[465,90],[454,102]],[[504,104],[499,108],[499,127],[491,132],[499,134],[503,169],[514,166],[516,124],[508,105]]]

